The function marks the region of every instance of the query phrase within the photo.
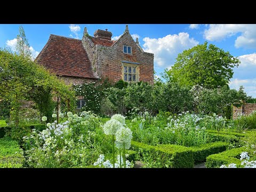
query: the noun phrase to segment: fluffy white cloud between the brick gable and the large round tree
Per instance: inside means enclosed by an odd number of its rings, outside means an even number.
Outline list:
[[[143,38],[144,51],[154,53],[154,65],[157,67],[169,68],[173,66],[178,53],[197,45],[194,38],[189,38],[188,33],[179,33],[179,35],[166,35],[162,38]]]

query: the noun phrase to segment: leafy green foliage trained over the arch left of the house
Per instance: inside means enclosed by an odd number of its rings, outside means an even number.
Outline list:
[[[0,50],[0,68],[0,97],[10,102],[15,126],[19,125],[21,100],[35,101],[41,115],[49,120],[53,112],[52,97],[60,95],[70,103],[74,100],[69,86],[28,57]]]

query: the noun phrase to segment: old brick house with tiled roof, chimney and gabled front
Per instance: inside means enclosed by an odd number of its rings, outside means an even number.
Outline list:
[[[66,84],[79,85],[108,78],[117,82],[148,82],[154,80],[154,54],[144,52],[138,38],[133,40],[126,25],[124,33],[111,40],[110,31],[98,29],[94,37],[87,33],[82,40],[50,35],[35,61],[63,79]],[[77,108],[85,102],[78,98]]]

